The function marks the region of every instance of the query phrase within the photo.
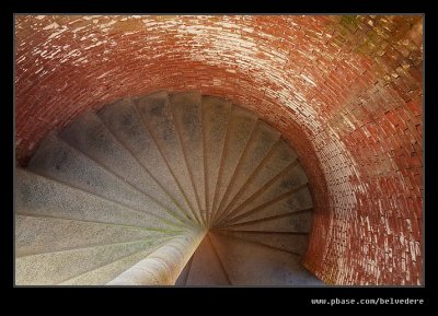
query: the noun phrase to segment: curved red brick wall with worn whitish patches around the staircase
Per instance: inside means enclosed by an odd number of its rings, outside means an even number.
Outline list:
[[[15,33],[19,164],[123,96],[224,96],[299,153],[315,203],[306,267],[327,283],[423,282],[420,16],[18,15]]]

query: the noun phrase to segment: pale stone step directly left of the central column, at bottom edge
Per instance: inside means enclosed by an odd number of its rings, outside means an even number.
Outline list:
[[[125,258],[118,259],[111,264],[88,271],[83,274],[64,281],[59,283],[59,285],[104,285],[118,274],[123,273],[123,271],[129,269],[138,261],[148,257],[151,253],[153,253],[157,248],[165,244],[165,242],[168,241],[169,241],[168,238],[153,239],[155,245],[149,247],[146,250],[141,250],[134,255],[127,256]]]

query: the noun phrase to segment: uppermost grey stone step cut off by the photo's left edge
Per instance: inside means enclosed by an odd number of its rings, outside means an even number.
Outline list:
[[[129,209],[90,192],[18,168],[15,213],[88,222],[181,231],[180,226],[145,211]]]

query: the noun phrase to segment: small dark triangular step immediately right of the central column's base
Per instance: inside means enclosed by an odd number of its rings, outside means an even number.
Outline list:
[[[208,235],[193,255],[186,285],[231,285]]]

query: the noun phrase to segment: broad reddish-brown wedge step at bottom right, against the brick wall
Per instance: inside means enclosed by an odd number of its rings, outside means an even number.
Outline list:
[[[210,238],[233,285],[322,285],[299,256],[218,234]]]

